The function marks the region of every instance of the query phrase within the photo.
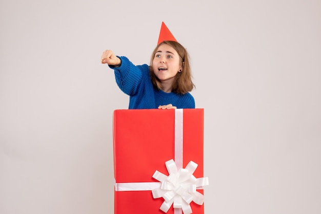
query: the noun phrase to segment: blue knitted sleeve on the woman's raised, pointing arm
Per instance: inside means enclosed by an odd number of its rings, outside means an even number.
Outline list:
[[[114,70],[119,89],[129,96],[133,96],[137,93],[139,83],[142,81],[142,66],[133,65],[125,56],[120,56],[119,58],[122,60],[121,66],[117,68],[114,66],[109,67]]]

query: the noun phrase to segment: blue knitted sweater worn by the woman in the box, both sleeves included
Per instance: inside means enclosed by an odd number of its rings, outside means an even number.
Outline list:
[[[118,68],[114,69],[118,87],[129,98],[129,109],[157,109],[159,105],[172,104],[177,109],[195,109],[195,101],[190,93],[177,94],[166,93],[153,87],[149,67],[144,64],[135,66],[125,56],[119,57],[122,60]]]

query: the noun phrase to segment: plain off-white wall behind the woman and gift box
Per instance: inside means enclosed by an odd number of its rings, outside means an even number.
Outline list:
[[[0,3],[0,213],[112,213],[105,49],[148,63],[166,23],[205,109],[205,212],[321,213],[321,2]]]

